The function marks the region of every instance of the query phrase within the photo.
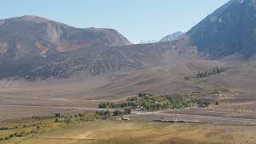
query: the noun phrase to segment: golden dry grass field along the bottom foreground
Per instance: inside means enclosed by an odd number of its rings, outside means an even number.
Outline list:
[[[255,143],[255,126],[86,122],[22,142],[34,143]]]

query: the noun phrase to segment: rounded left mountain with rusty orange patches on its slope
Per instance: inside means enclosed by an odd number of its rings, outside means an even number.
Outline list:
[[[0,58],[22,60],[46,57],[90,46],[131,44],[116,30],[81,29],[37,16],[0,20]]]

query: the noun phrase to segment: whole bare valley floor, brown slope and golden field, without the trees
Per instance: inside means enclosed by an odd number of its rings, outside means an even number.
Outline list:
[[[184,80],[216,65],[191,62],[84,81],[0,82],[0,124],[8,119],[99,110],[99,102],[120,102],[139,92],[191,94],[224,86],[228,93],[205,95],[218,101],[218,106],[145,114],[133,111],[130,122],[83,122],[25,138],[22,143],[256,143],[256,65],[228,65],[232,69],[222,74]],[[162,118],[186,122],[154,122]]]

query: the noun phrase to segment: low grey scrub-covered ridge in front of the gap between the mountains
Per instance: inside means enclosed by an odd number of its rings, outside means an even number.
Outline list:
[[[186,43],[166,42],[130,46],[95,46],[53,54],[34,62],[16,78],[27,80],[68,78],[71,75],[99,76],[115,72],[131,72],[162,66],[174,59],[196,57],[197,52]]]

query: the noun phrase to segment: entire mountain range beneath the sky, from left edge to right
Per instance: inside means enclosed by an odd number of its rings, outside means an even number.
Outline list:
[[[36,16],[0,20],[1,78],[68,78],[142,70],[178,58],[256,54],[256,0],[231,0],[187,33],[131,45],[111,29],[80,29]],[[146,42],[147,43],[147,42]]]

